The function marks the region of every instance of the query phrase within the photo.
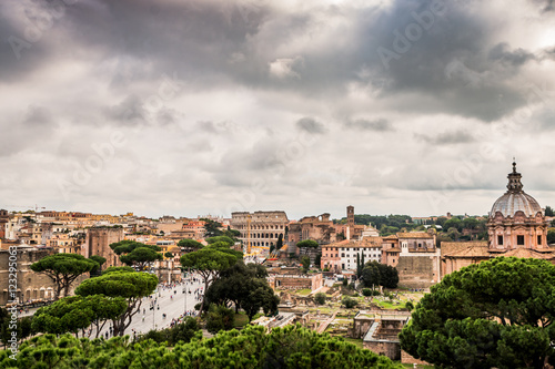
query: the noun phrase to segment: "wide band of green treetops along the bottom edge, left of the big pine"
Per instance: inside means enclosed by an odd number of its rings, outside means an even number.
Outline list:
[[[261,326],[221,331],[210,339],[193,335],[189,342],[144,339],[129,336],[104,339],[77,339],[70,335],[44,335],[21,344],[17,360],[0,351],[2,368],[115,369],[115,368],[380,368],[401,369],[384,356],[361,349],[340,337],[316,334],[300,326]]]

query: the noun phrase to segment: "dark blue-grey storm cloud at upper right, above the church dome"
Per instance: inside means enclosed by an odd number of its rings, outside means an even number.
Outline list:
[[[533,59],[531,53],[522,49],[508,52],[507,45],[497,45],[491,51],[483,35],[492,32],[493,27],[484,21],[485,14],[473,10],[472,1],[444,2],[442,14],[433,14],[431,3],[396,1],[379,18],[377,25],[367,30],[375,34],[375,44],[383,48],[382,54],[383,50],[395,52],[391,59],[374,59],[375,72],[390,81],[383,93],[393,96],[403,91],[418,91],[423,98],[441,101],[441,106],[430,105],[436,111],[483,121],[498,119],[522,106],[525,101],[519,86],[508,85],[504,80],[518,73],[518,66]],[[423,14],[427,14],[426,23],[420,27]],[[412,34],[413,41],[406,34]],[[513,63],[505,65],[488,57],[506,58]],[[455,63],[458,71],[450,70],[454,60],[458,61]],[[465,83],[451,79],[453,72],[458,72]],[[471,83],[477,75],[480,83]],[[504,96],[501,106],[496,101],[500,95]]]

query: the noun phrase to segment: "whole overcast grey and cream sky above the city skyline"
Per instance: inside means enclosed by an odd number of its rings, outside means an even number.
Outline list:
[[[553,0],[51,2],[0,2],[0,207],[555,205]]]

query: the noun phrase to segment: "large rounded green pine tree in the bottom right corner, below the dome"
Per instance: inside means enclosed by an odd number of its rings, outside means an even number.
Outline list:
[[[416,305],[401,347],[441,368],[555,365],[555,266],[496,257],[444,277]]]

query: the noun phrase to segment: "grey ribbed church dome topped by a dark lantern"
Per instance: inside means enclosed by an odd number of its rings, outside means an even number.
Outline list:
[[[525,216],[535,216],[537,212],[542,213],[542,207],[536,199],[522,189],[521,177],[521,173],[516,172],[516,163],[513,163],[513,173],[507,176],[508,191],[493,204],[491,217],[494,217],[496,212],[501,212],[505,217],[514,216],[518,211],[522,211]]]

